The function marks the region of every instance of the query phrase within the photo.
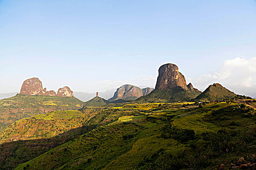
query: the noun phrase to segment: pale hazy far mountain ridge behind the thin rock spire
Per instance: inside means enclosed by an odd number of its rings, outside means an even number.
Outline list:
[[[98,92],[98,96],[108,100],[109,98],[113,97],[115,91],[116,89],[113,88],[104,92]],[[74,92],[74,96],[83,102],[87,102],[95,97],[95,93]]]

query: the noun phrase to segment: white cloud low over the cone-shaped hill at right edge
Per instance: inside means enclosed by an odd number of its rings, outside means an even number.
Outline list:
[[[247,95],[255,94],[256,57],[251,59],[236,57],[232,60],[226,60],[217,71],[212,71],[190,80],[199,89],[205,89],[213,83],[220,83],[235,92],[246,91]],[[254,97],[254,95],[251,96]]]

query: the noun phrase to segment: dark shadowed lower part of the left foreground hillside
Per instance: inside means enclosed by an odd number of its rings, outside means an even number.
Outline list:
[[[12,170],[59,145],[94,129],[95,125],[71,129],[51,138],[10,141],[0,144],[0,170]]]

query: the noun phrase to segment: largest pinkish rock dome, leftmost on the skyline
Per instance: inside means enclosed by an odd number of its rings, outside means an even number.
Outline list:
[[[27,79],[23,82],[20,94],[38,95],[42,91],[42,82],[39,78]]]

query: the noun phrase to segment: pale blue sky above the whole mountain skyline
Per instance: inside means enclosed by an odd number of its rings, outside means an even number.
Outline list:
[[[0,93],[155,87],[176,64],[187,83],[256,97],[256,0],[0,0]]]

